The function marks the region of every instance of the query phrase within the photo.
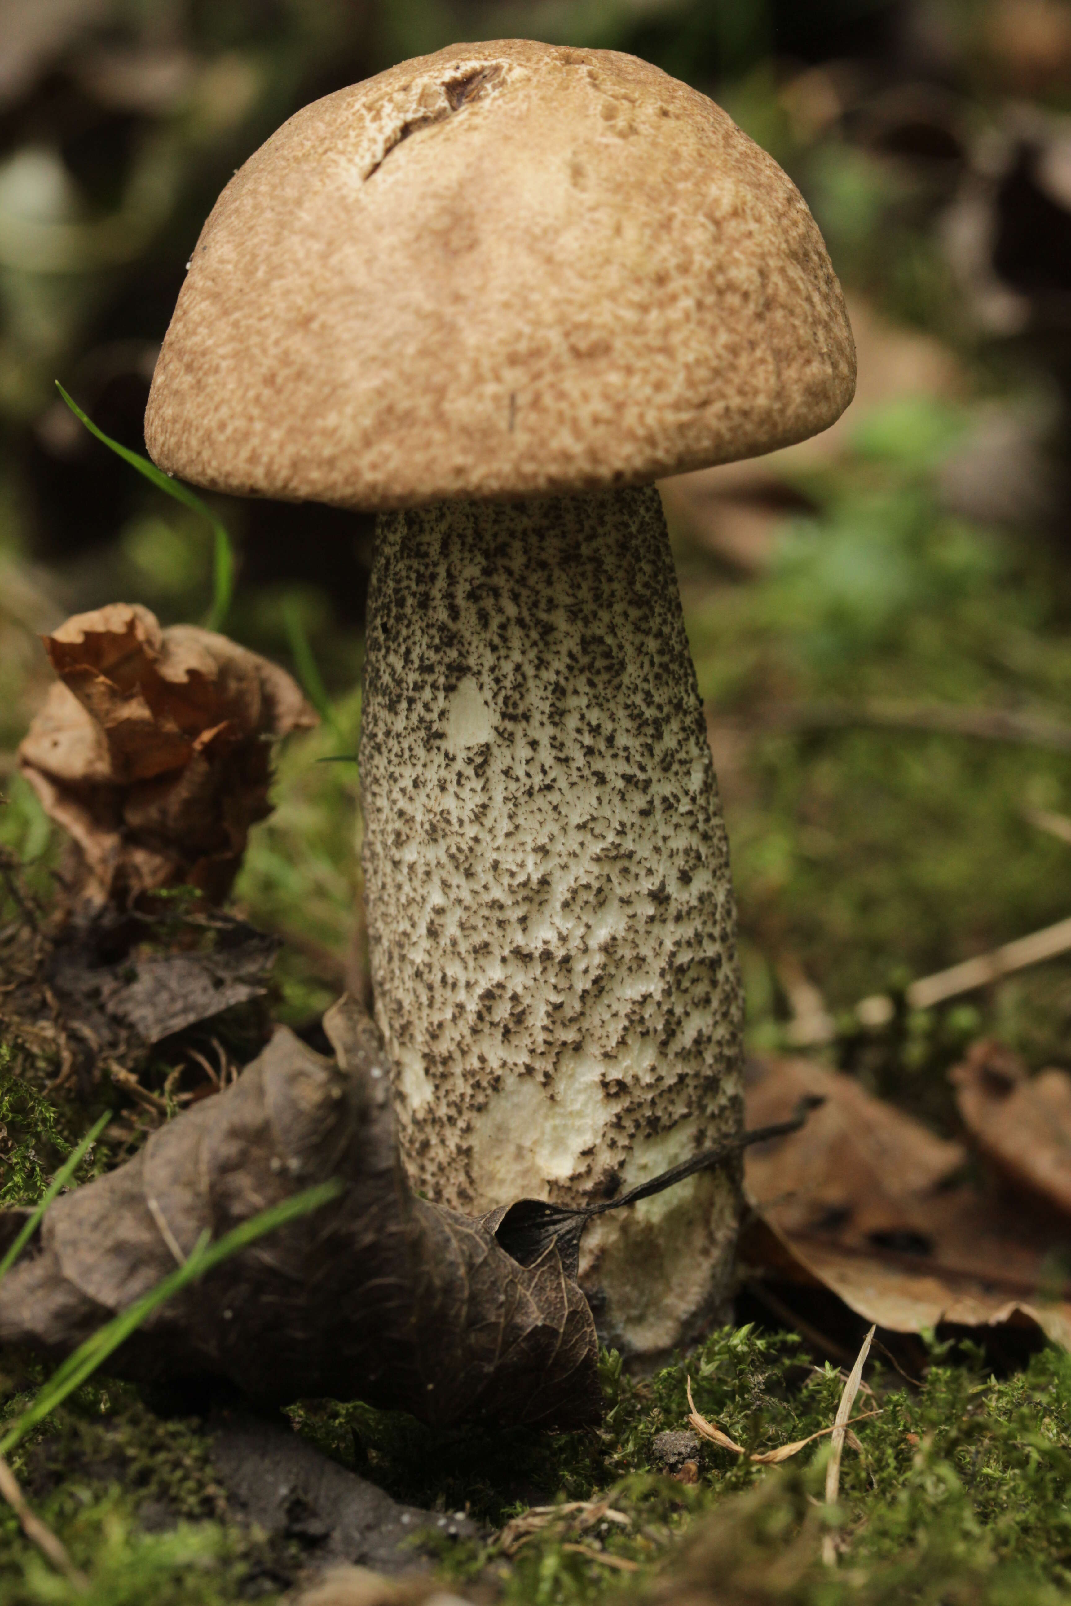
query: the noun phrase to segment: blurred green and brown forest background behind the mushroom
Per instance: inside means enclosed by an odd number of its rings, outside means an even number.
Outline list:
[[[1068,960],[880,1029],[851,1013],[1071,912],[1065,0],[0,0],[0,840],[47,872],[13,760],[50,678],[37,633],[117,599],[198,618],[209,593],[209,532],[53,381],[141,450],[231,172],[308,100],[515,35],[634,51],[711,93],[796,180],[849,294],[841,424],[663,487],[753,1044],[832,1042],[935,1119],[935,1073],[981,1029],[1071,1063]],[[297,617],[337,699],[336,728],[281,755],[239,883],[287,938],[302,1020],[361,970],[356,769],[315,760],[358,739],[373,524],[214,506],[239,552],[230,633],[292,663]],[[1020,737],[979,736],[989,715]]]

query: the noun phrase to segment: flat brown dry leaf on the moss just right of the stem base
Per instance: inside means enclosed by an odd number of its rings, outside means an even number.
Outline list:
[[[965,1158],[957,1143],[808,1060],[751,1066],[748,1123],[766,1124],[801,1092],[825,1099],[803,1132],[747,1156],[756,1217],[742,1241],[745,1266],[825,1286],[891,1331],[1012,1325],[1071,1344],[1071,1299],[1050,1294],[1061,1217],[1028,1219],[971,1184],[955,1185]]]

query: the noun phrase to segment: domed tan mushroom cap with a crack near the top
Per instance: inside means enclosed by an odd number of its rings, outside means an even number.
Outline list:
[[[305,106],[193,255],[146,414],[215,490],[398,507],[639,483],[854,389],[801,196],[633,56],[453,45]]]

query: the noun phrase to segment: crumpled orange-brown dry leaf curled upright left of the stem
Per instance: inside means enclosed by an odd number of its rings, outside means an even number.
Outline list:
[[[128,907],[189,883],[226,896],[270,813],[270,742],[316,723],[276,665],[145,607],[77,613],[45,638],[59,676],[19,768],[80,854],[75,895]]]

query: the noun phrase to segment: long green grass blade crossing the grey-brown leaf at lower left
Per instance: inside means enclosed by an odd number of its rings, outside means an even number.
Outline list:
[[[294,1198],[271,1204],[268,1209],[260,1211],[259,1216],[250,1216],[249,1221],[241,1222],[241,1225],[225,1233],[218,1243],[209,1243],[207,1233],[202,1235],[183,1266],[177,1266],[156,1288],[151,1288],[141,1299],[135,1299],[127,1310],[120,1310],[119,1315],[106,1322],[92,1338],[87,1338],[63,1362],[59,1370],[42,1384],[34,1402],[16,1416],[3,1439],[0,1439],[0,1455],[8,1455],[26,1437],[31,1428],[48,1416],[56,1405],[61,1405],[67,1394],[80,1388],[112,1351],[119,1349],[165,1299],[170,1299],[172,1294],[180,1293],[180,1290],[204,1277],[206,1272],[228,1261],[250,1243],[255,1243],[265,1233],[275,1232],[278,1227],[284,1227],[287,1222],[320,1209],[329,1200],[337,1198],[340,1192],[340,1182],[321,1182],[313,1188],[305,1188],[303,1193],[295,1193]]]

